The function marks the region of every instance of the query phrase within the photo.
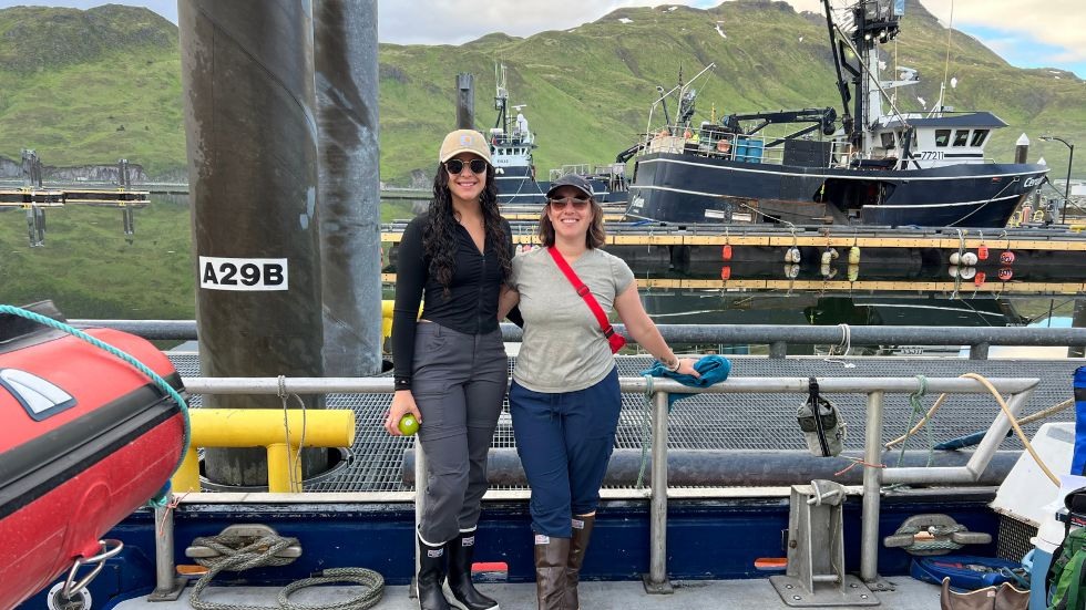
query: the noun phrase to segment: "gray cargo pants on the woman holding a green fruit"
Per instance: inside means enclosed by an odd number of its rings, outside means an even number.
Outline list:
[[[422,412],[419,443],[429,476],[419,525],[426,542],[447,542],[478,524],[486,454],[508,384],[500,329],[464,334],[419,323],[411,394]]]

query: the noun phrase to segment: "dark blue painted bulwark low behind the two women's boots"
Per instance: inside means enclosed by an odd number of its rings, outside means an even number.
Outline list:
[[[909,516],[945,513],[973,531],[997,531],[997,518],[986,504],[990,494],[920,500],[887,497],[882,504],[880,537],[892,534]],[[175,515],[175,561],[192,564],[185,547],[197,536],[213,536],[236,523],[263,523],[280,535],[297,537],[301,557],[281,568],[262,568],[217,579],[218,585],[254,582],[283,586],[326,568],[362,567],[380,572],[388,585],[410,582],[414,562],[411,546],[414,508],[411,504],[352,505],[184,505]],[[668,508],[668,576],[674,580],[765,578],[755,559],[785,557],[783,531],[788,502],[782,498],[737,500],[673,500]],[[844,507],[844,547],[848,570],[859,569],[860,499]],[[154,582],[154,523],[150,513],[133,514],[109,535],[122,540],[121,557],[109,564],[115,576],[98,578],[90,591],[96,608],[150,591]],[[511,582],[534,579],[532,533],[523,503],[484,503],[475,546],[477,561],[504,561]],[[648,505],[608,502],[601,507],[583,580],[639,580],[649,562]],[[880,544],[881,547],[881,544]],[[994,546],[971,548],[994,555]],[[883,576],[909,573],[910,556],[881,549]],[[44,592],[23,608],[43,608]],[[105,606],[101,603],[105,602]]]

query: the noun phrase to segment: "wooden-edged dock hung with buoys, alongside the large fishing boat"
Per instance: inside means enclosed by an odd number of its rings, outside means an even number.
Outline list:
[[[396,281],[404,224],[382,227]],[[518,251],[539,246],[536,224],[511,221]],[[1086,294],[1086,234],[1062,227],[1000,230],[889,227],[607,225],[611,254],[642,290]],[[799,252],[799,260],[792,257]],[[960,262],[963,255],[972,265]]]

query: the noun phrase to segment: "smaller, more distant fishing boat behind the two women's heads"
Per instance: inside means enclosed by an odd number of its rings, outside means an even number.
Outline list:
[[[498,82],[494,94],[494,110],[498,120],[486,134],[490,141],[491,161],[498,170],[498,203],[503,206],[543,204],[551,182],[566,175],[577,174],[588,180],[592,192],[601,204],[625,203],[627,197],[626,165],[574,164],[552,169],[547,179],[537,179],[533,153],[539,145],[535,133],[529,127],[523,110],[526,104],[510,104],[505,65],[495,66]],[[515,113],[515,115],[514,115]]]

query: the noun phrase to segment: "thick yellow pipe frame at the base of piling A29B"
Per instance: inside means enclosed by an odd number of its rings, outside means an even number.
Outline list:
[[[177,492],[199,492],[196,447],[266,447],[268,490],[300,492],[300,446],[349,447],[355,443],[355,413],[345,410],[291,409],[287,411],[289,438],[283,430],[284,412],[278,409],[196,409],[189,413],[192,441],[185,461],[173,477]],[[305,421],[305,425],[303,425]],[[303,430],[304,428],[304,430]],[[304,432],[304,434],[303,434]],[[303,440],[303,436],[305,438]],[[289,444],[288,444],[289,443]],[[294,457],[298,488],[290,486]]]

